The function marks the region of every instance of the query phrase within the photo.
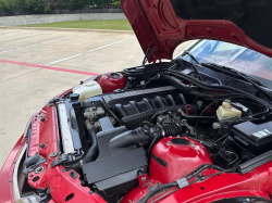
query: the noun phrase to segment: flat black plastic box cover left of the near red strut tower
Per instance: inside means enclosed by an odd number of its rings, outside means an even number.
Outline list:
[[[137,172],[147,166],[144,148],[83,165],[88,185],[95,183],[108,195],[119,195],[137,186]]]

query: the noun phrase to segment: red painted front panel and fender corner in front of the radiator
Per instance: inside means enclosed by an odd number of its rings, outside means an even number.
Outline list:
[[[88,193],[90,190],[89,188],[83,187],[81,185],[79,175],[77,176],[77,178],[73,179],[69,175],[70,172],[62,170],[64,168],[63,166],[55,166],[53,168],[50,167],[51,162],[57,158],[51,158],[50,153],[59,152],[58,140],[60,138],[57,109],[54,106],[50,107],[47,105],[40,111],[40,113],[46,115],[46,120],[40,122],[39,119],[36,119],[34,117],[33,125],[35,125],[36,123],[39,126],[40,131],[38,134],[39,139],[35,138],[34,140],[30,140],[30,147],[34,149],[30,151],[32,154],[35,154],[38,151],[41,156],[47,158],[47,162],[41,164],[46,167],[46,169],[39,175],[35,175],[35,173],[29,173],[28,183],[37,189],[50,188],[50,192],[53,198],[53,201],[51,202],[65,202],[65,198],[69,196],[71,193],[74,194],[74,198],[69,201],[71,203],[103,202],[103,200],[97,194]],[[46,143],[46,147],[44,149],[38,148],[40,143]],[[30,177],[30,175],[33,175],[33,177]],[[35,178],[36,176],[39,176],[39,180],[33,181],[33,178]]]

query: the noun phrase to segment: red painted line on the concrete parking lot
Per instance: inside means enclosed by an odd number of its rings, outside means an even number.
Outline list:
[[[90,76],[100,75],[97,73],[83,72],[83,71],[77,71],[77,69],[69,69],[69,68],[63,68],[63,67],[52,67],[52,66],[47,66],[47,65],[38,65],[38,64],[15,62],[15,61],[8,61],[8,60],[0,60],[0,63],[10,63],[10,64],[24,65],[24,66],[29,66],[29,67],[38,67],[38,68],[44,68],[44,69],[51,69],[51,71],[66,72],[66,73],[82,74],[82,75],[90,75]]]

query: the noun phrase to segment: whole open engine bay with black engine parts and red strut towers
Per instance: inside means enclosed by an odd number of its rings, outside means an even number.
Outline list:
[[[208,75],[209,86],[193,83],[197,73],[178,75],[187,66],[159,66],[159,73],[146,67],[104,74],[51,101],[61,136],[51,168],[75,172],[83,187],[109,203],[145,203],[168,188],[221,173],[247,174],[272,160],[265,101],[222,86],[219,91],[222,83]],[[96,93],[86,93],[85,84]]]

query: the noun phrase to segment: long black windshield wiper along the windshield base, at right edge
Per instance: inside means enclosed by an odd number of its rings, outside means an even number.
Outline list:
[[[231,73],[234,73],[236,74],[237,76],[239,76],[240,78],[245,79],[246,81],[248,81],[249,84],[251,84],[256,89],[258,89],[259,91],[261,91],[263,94],[265,94],[269,99],[272,99],[272,94],[267,91],[264,88],[263,88],[263,85],[261,81],[259,81],[258,79],[247,75],[247,74],[244,74],[242,72],[238,72],[232,67],[227,67],[227,66],[223,66],[223,65],[219,65],[219,64],[215,64],[215,63],[201,63],[202,66],[206,66],[206,67],[213,67],[213,68],[217,68],[217,69],[225,69],[225,71],[228,71]]]

